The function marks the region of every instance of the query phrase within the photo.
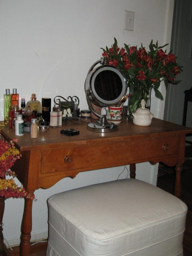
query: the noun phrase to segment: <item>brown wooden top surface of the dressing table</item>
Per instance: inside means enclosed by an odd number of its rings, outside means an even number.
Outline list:
[[[91,119],[91,122],[95,122],[97,119]],[[73,121],[75,122],[75,120]],[[62,125],[58,128],[49,128],[45,133],[38,131],[38,138],[31,139],[30,133],[24,133],[22,136],[16,136],[15,131],[8,126],[1,127],[1,134],[7,140],[18,139],[15,146],[19,151],[27,151],[33,149],[47,149],[57,148],[63,146],[77,146],[85,144],[95,144],[102,142],[115,142],[120,140],[133,140],[144,139],[146,137],[159,137],[162,134],[164,136],[187,134],[192,133],[192,128],[188,128],[182,125],[177,125],[171,122],[167,122],[161,119],[152,119],[152,124],[149,126],[134,125],[127,117],[123,117],[123,120],[119,125],[117,131],[108,133],[98,133],[87,129],[88,122],[80,121],[79,123],[73,123],[67,120],[67,125]],[[73,128],[79,130],[79,135],[66,136],[60,134],[62,129]]]

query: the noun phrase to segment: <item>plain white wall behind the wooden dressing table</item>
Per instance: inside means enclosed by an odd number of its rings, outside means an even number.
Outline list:
[[[100,47],[123,43],[146,46],[151,39],[170,43],[173,0],[1,0],[0,119],[5,89],[17,88],[28,101],[76,95],[87,109],[84,82],[90,66],[101,57]],[[134,31],[124,30],[125,10],[133,11]],[[162,92],[165,94],[164,86]],[[155,100],[153,100],[155,99]],[[152,94],[152,113],[163,118],[164,103]],[[35,161],[35,159],[34,159]],[[46,199],[60,191],[117,179],[124,167],[79,173],[49,189],[35,191],[32,240],[47,236]],[[137,164],[137,178],[156,184],[157,165]],[[125,170],[119,178],[125,178]],[[5,202],[4,237],[19,243],[23,199]]]

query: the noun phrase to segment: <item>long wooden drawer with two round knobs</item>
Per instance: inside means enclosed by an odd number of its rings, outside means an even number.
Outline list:
[[[41,173],[94,170],[179,153],[180,136],[122,140],[42,150]],[[139,161],[138,161],[139,160]]]

